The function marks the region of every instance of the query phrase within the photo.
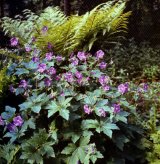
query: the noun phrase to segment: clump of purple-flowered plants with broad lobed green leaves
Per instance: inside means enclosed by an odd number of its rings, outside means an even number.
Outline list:
[[[12,41],[18,44],[15,38]],[[10,91],[25,101],[18,109],[6,106],[0,115],[3,138],[12,144],[1,146],[1,159],[8,160],[4,155],[8,148],[10,161],[43,163],[52,158],[68,164],[95,163],[108,151],[108,140],[122,152],[133,135],[131,128],[128,134],[121,129],[129,127],[128,117],[135,108],[125,99],[129,84],[112,85],[104,52],[79,51],[65,58],[31,47],[26,51],[29,59],[8,68],[8,75],[17,77]]]

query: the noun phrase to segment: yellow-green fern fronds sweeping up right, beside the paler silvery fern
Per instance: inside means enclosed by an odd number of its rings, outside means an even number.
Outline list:
[[[111,40],[120,32],[127,31],[127,20],[131,13],[123,14],[124,8],[124,2],[111,1],[82,16],[71,16],[65,23],[50,28],[47,35],[38,36],[37,45],[44,47],[50,42],[56,52],[64,54],[75,49],[90,50],[99,37],[105,35],[105,39],[107,36]]]

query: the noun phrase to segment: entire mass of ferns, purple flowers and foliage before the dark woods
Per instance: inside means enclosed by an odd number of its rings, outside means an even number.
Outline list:
[[[158,164],[160,50],[96,49],[126,32],[124,8],[3,18],[13,49],[0,51],[0,163]]]

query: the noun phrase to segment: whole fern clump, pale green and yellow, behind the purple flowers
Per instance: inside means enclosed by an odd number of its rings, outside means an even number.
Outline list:
[[[124,9],[124,2],[109,1],[82,16],[68,18],[57,7],[49,7],[39,16],[25,10],[26,20],[4,17],[2,27],[6,34],[19,38],[21,44],[34,38],[40,49],[46,51],[50,44],[56,53],[68,55],[78,49],[90,50],[98,40],[109,42],[122,36],[130,15],[123,13]]]

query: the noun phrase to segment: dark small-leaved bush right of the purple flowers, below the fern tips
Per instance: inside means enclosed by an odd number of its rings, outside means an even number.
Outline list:
[[[138,83],[157,81],[160,75],[160,49],[152,48],[147,43],[137,45],[132,39],[126,45],[117,44],[106,51],[106,60],[113,61],[112,76]]]

